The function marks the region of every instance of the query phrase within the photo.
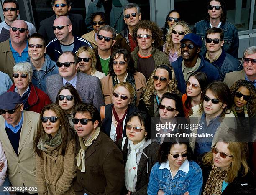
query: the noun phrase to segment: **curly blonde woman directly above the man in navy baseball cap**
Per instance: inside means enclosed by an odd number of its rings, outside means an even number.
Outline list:
[[[177,22],[174,23],[168,30],[166,34],[166,43],[164,44],[164,53],[169,56],[170,63],[176,61],[176,59],[181,56],[180,52],[180,40],[184,35],[191,33],[191,30],[187,23]]]

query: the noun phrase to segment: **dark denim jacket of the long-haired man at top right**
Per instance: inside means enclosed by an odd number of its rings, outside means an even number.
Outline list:
[[[206,31],[211,28],[209,20],[201,20],[195,23],[193,28],[193,33],[200,35],[202,40],[202,48],[201,54],[205,53],[205,34]],[[224,33],[224,45],[223,48],[227,53],[231,56],[238,58],[238,47],[239,47],[239,39],[238,39],[238,29],[233,24],[228,21],[225,23],[221,23],[220,28]]]

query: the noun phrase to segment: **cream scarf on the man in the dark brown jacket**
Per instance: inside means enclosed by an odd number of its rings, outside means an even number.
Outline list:
[[[85,172],[85,152],[88,149],[88,147],[95,142],[99,134],[100,134],[100,127],[97,127],[97,129],[95,129],[95,132],[87,141],[85,141],[82,137],[79,137],[81,149],[79,150],[76,156],[76,160],[77,160],[77,167],[81,172]]]

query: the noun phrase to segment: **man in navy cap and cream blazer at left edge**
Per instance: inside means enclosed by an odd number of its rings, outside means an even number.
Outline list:
[[[27,187],[27,192],[33,194],[36,191],[29,190],[31,186],[36,187],[33,141],[40,114],[24,111],[22,102],[16,92],[5,92],[0,96],[0,140],[8,162],[10,186]]]

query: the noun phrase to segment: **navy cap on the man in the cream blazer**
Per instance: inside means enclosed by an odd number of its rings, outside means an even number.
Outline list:
[[[12,110],[15,109],[17,104],[23,103],[20,94],[16,92],[5,92],[0,95],[0,109],[1,110]]]

